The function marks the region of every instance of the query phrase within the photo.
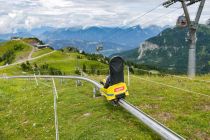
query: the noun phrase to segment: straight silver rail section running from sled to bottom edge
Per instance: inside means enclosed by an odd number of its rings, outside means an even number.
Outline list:
[[[130,112],[132,115],[134,115],[136,118],[138,118],[140,121],[142,121],[145,125],[150,127],[150,129],[153,130],[156,134],[161,136],[163,139],[166,140],[184,140],[182,136],[178,135],[171,129],[167,128],[163,124],[159,123],[155,119],[153,119],[148,114],[144,113],[139,108],[133,106],[129,102],[127,102],[124,99],[119,100],[119,105],[125,108],[128,112]]]

